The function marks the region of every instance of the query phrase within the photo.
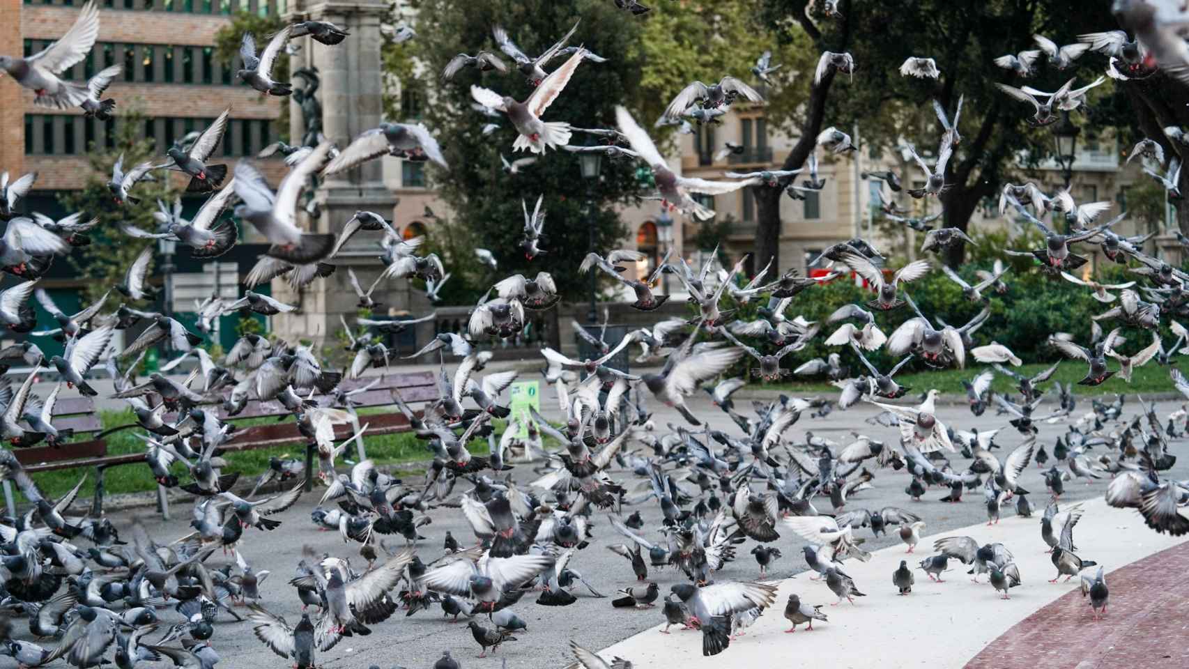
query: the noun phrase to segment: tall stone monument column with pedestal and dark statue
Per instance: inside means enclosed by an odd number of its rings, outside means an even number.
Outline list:
[[[345,149],[361,132],[378,127],[383,114],[383,71],[380,48],[384,38],[379,25],[390,14],[384,0],[290,0],[285,19],[329,21],[346,29],[351,34],[341,43],[326,45],[313,38],[295,40],[302,46],[290,57],[290,74],[294,88],[310,88],[316,77],[313,97],[320,103],[320,122],[327,139]],[[312,128],[306,116],[310,106],[301,94],[290,99],[290,143],[300,144]],[[316,109],[317,105],[313,108]],[[316,119],[312,122],[317,122]],[[316,130],[316,128],[313,128]],[[384,188],[382,160],[370,160],[353,170],[340,172],[321,181],[313,191],[319,215],[306,216],[306,227],[312,232],[338,234],[357,210],[370,210],[392,217],[395,196]],[[298,304],[294,314],[272,317],[272,329],[287,341],[313,340],[316,345],[335,345],[334,333],[341,329],[339,316],[344,315],[353,324],[357,314],[357,297],[347,277],[352,267],[360,284],[367,286],[379,276],[383,265],[377,257],[379,234],[360,232],[350,245],[328,263],[336,266],[327,278],[294,291],[284,279],[272,282],[272,294],[282,302]],[[373,294],[384,304],[383,315],[391,309],[407,307],[409,290],[404,279],[380,285]],[[329,341],[327,341],[329,340]]]

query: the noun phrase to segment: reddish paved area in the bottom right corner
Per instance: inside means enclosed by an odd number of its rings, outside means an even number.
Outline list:
[[[1106,581],[1111,598],[1102,620],[1092,618],[1089,598],[1072,589],[992,642],[965,669],[1189,667],[1189,543],[1109,572]],[[1039,578],[1033,583],[1057,587]]]

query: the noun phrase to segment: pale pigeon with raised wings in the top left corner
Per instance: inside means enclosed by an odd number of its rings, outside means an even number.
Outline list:
[[[0,70],[32,90],[34,105],[58,109],[78,107],[90,97],[87,84],[65,81],[58,75],[82,62],[97,37],[99,7],[87,2],[62,38],[29,58],[0,56]]]

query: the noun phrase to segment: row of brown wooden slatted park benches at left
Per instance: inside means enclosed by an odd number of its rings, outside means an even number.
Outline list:
[[[345,380],[339,387],[341,390],[350,391],[365,386],[372,380],[375,380],[375,377]],[[394,404],[394,391],[398,391],[404,402],[409,404],[430,402],[436,399],[439,396],[438,384],[433,372],[392,373],[384,375],[382,380],[371,390],[352,397],[352,402],[356,409],[391,406]],[[315,400],[320,400],[320,403],[325,405],[329,397],[331,396],[315,396]],[[282,418],[284,416],[289,416],[289,411],[287,411],[279,402],[273,400],[249,400],[244,410],[235,416],[226,416],[222,406],[208,406],[205,409],[215,411],[220,418],[227,419],[232,423],[245,418]],[[120,425],[107,431],[101,431],[102,424],[95,411],[95,404],[89,397],[59,399],[55,406],[54,416],[56,417],[54,422],[55,427],[59,429],[74,428],[76,435],[94,435],[93,438],[70,442],[57,448],[50,446],[15,448],[13,449],[13,454],[17,460],[24,465],[25,471],[30,474],[36,474],[38,472],[54,472],[58,469],[71,469],[76,467],[94,467],[95,496],[92,501],[92,516],[97,518],[103,511],[103,472],[108,467],[133,465],[145,461],[144,452],[108,455],[107,442],[103,437],[122,429],[139,429],[139,427],[133,423],[128,425]],[[63,418],[58,419],[58,416],[63,416]],[[172,417],[166,416],[166,418],[171,419]],[[372,436],[403,433],[410,429],[409,419],[400,411],[369,415],[364,417],[364,421],[367,423],[367,434]],[[345,440],[358,430],[358,423],[335,425],[334,437],[335,440]],[[303,437],[297,430],[297,423],[295,421],[285,421],[277,422],[275,424],[250,425],[235,430],[232,438],[222,444],[221,449],[225,453],[238,453],[243,450],[270,448],[273,446],[283,446],[303,441],[306,441],[306,437]],[[358,444],[358,448],[359,457],[365,459],[367,454],[361,442]],[[314,449],[307,448],[307,490],[310,490],[313,485],[313,459]],[[168,520],[169,504],[165,490],[166,488],[163,486],[157,486],[157,510]],[[4,482],[4,492],[5,501],[8,504],[8,510],[14,513],[15,506],[13,505],[12,486],[8,481]]]

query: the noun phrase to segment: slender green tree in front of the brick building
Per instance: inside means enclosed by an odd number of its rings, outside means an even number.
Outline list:
[[[117,204],[107,189],[112,166],[121,154],[125,171],[144,160],[159,159],[157,153],[162,151],[157,151],[152,141],[138,139],[138,131],[144,126],[144,114],[136,106],[122,112],[115,121],[113,147],[106,149],[97,143],[87,147],[90,170],[83,188],[58,191],[58,202],[67,212],[84,212],[86,215],[99,219],[99,225],[87,233],[90,236],[90,245],[82,246],[67,257],[78,276],[84,279],[83,292],[87,302],[99,298],[112,286],[122,283],[124,272],[136,257],[145,246],[153,244],[152,240],[132,239],[120,232],[120,227],[128,225],[143,229],[155,228],[156,221],[152,214],[157,210],[157,201],[174,200],[168,175],[159,177],[161,181],[157,182],[141,181],[133,188],[133,196],[140,200],[139,204],[133,204],[131,201],[122,206]]]

